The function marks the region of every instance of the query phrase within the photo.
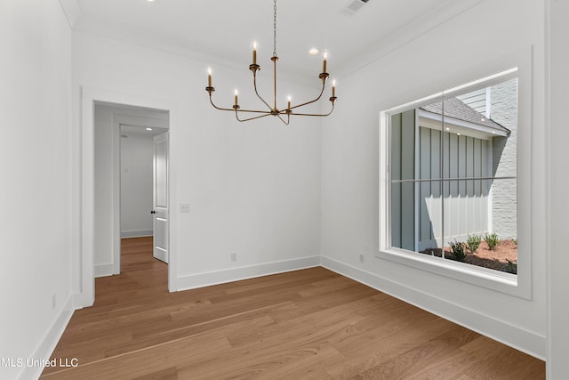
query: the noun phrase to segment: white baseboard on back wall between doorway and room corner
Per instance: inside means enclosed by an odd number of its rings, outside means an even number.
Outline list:
[[[258,265],[232,268],[225,271],[210,271],[192,274],[176,279],[176,291],[194,289],[196,287],[209,287],[241,279],[268,276],[285,271],[298,271],[320,265],[320,256],[302,257],[300,259],[285,260],[282,262],[262,263]]]

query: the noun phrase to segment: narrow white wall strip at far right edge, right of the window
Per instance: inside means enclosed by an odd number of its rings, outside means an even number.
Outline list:
[[[567,255],[567,227],[569,226],[569,202],[567,188],[567,85],[569,85],[569,3],[548,1],[549,32],[549,174],[548,174],[548,245],[549,263],[549,326],[548,326],[548,379],[563,379],[569,373],[569,255]]]

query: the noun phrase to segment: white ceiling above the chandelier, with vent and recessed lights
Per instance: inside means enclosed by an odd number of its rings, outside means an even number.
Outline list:
[[[481,0],[369,0],[352,16],[341,10],[359,0],[279,0],[276,53],[288,75],[317,77],[328,51],[328,70],[378,58]],[[252,41],[258,63],[273,53],[271,0],[60,0],[73,28],[185,53],[213,64],[248,69]],[[352,68],[353,69],[353,68]]]

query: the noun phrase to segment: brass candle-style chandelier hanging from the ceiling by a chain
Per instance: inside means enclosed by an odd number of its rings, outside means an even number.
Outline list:
[[[305,101],[303,103],[291,106],[291,98],[289,97],[286,108],[277,108],[276,107],[276,61],[278,61],[278,56],[276,56],[276,0],[275,0],[275,6],[274,6],[273,10],[274,10],[274,12],[273,12],[273,56],[270,59],[271,61],[273,61],[273,103],[272,103],[272,105],[269,104],[268,101],[265,101],[260,96],[260,94],[257,90],[257,71],[260,70],[260,66],[257,64],[257,46],[256,46],[256,44],[253,44],[252,64],[249,65],[249,69],[252,71],[252,85],[253,85],[253,88],[255,90],[255,94],[260,99],[260,101],[262,101],[265,104],[266,108],[265,109],[241,109],[241,106],[239,106],[239,98],[238,98],[237,91],[235,92],[235,102],[234,102],[232,108],[229,109],[229,108],[222,108],[222,107],[216,106],[212,100],[212,93],[215,91],[215,88],[212,87],[212,71],[210,69],[208,72],[208,76],[207,76],[207,87],[205,87],[205,91],[207,91],[209,93],[210,102],[212,103],[212,106],[215,109],[235,112],[236,119],[241,121],[241,122],[254,120],[254,119],[260,118],[260,117],[268,117],[269,115],[272,115],[274,117],[278,117],[285,125],[288,125],[289,122],[291,121],[291,115],[294,115],[294,116],[310,116],[310,117],[326,117],[326,116],[332,114],[332,112],[334,110],[334,102],[337,99],[335,96],[335,83],[334,82],[333,82],[333,86],[332,86],[332,96],[330,97],[330,102],[332,103],[332,109],[330,109],[330,112],[325,113],[325,114],[314,114],[314,113],[301,113],[301,112],[295,111],[295,109],[300,109],[303,106],[306,106],[306,105],[309,105],[309,104],[314,103],[316,101],[319,101],[320,98],[322,97],[322,94],[324,93],[324,90],[325,90],[326,79],[328,79],[328,77],[330,77],[330,75],[326,72],[326,58],[327,58],[326,53],[324,53],[324,60],[322,61],[322,72],[318,75],[318,77],[322,81],[322,90],[320,91],[320,94],[317,96],[317,98],[312,100],[312,101]],[[249,115],[244,116],[247,114],[249,114]]]

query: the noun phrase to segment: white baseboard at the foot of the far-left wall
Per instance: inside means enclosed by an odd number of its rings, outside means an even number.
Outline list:
[[[73,315],[73,311],[73,297],[69,296],[67,302],[63,305],[63,308],[60,311],[60,315],[53,321],[52,326],[47,330],[47,333],[40,344],[38,344],[36,351],[31,356],[31,359],[40,361],[44,360],[44,362],[50,360],[52,352],[55,350],[55,346],[58,344],[63,332],[65,331],[65,327],[68,326],[69,320]],[[71,360],[71,358],[68,359]],[[36,379],[42,375],[43,371],[43,366],[25,366],[18,378]]]

